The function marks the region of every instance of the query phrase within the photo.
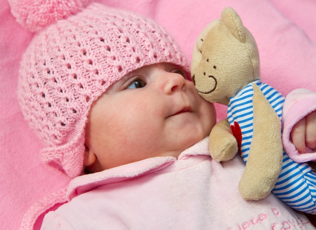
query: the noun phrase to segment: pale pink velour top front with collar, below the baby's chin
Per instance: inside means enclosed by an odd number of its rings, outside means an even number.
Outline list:
[[[239,156],[212,159],[208,139],[178,159],[155,157],[74,178],[69,203],[46,214],[41,229],[315,229],[274,195],[245,201]]]

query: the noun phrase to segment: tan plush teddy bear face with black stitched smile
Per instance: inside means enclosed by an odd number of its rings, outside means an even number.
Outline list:
[[[236,38],[222,20],[201,32],[191,63],[192,79],[200,96],[227,105],[230,97],[254,80],[248,46],[247,39]]]

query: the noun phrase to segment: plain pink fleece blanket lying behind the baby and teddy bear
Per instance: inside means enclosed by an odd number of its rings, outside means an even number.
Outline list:
[[[316,90],[316,2],[314,0],[98,0],[151,17],[176,38],[190,60],[194,41],[221,11],[233,7],[254,35],[262,81],[287,95],[297,87]],[[0,229],[18,229],[37,200],[64,188],[62,173],[43,165],[41,144],[23,120],[16,96],[21,54],[32,34],[0,0]],[[217,106],[224,118],[224,106]]]

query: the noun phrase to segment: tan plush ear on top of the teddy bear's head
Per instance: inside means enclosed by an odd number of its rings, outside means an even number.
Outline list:
[[[244,25],[237,14],[237,12],[231,8],[227,7],[222,11],[222,21],[226,25],[227,29],[241,42],[246,41]]]

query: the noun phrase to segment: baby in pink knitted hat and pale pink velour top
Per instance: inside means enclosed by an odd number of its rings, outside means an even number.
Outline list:
[[[240,197],[244,164],[210,157],[214,105],[162,27],[99,4],[44,27],[23,56],[19,99],[43,161],[73,179],[42,229],[314,229],[272,194]]]

